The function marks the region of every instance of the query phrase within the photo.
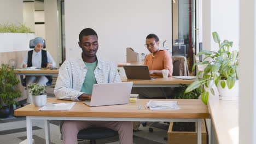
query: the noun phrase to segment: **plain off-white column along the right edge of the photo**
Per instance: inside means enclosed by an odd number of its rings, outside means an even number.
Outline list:
[[[255,0],[240,1],[239,143],[256,143]]]

